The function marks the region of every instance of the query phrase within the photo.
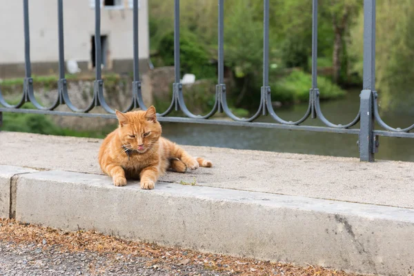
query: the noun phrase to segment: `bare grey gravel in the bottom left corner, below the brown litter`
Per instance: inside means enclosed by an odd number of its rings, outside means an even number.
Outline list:
[[[201,266],[148,266],[150,258],[96,253],[61,253],[58,246],[0,243],[0,275],[228,275]]]

